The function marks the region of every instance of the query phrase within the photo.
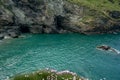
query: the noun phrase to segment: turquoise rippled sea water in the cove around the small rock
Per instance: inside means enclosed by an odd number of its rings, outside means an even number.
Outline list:
[[[120,34],[41,34],[0,42],[0,80],[45,68],[70,70],[90,80],[120,80],[120,55],[96,49],[101,44],[120,50]]]

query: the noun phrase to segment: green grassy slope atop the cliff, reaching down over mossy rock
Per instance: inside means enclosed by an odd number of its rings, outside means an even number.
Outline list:
[[[80,6],[88,8],[88,11],[84,13],[83,18],[80,20],[82,24],[89,24],[94,26],[94,23],[98,17],[106,18],[111,22],[119,21],[110,16],[112,11],[120,11],[120,0],[67,0],[70,3],[74,3]],[[80,24],[80,23],[79,23]]]

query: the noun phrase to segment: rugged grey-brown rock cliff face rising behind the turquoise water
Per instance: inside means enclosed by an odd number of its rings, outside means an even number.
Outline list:
[[[107,2],[113,4],[114,0]],[[0,0],[0,33],[4,35],[119,30],[120,11],[117,9],[100,11],[84,5],[81,0]]]

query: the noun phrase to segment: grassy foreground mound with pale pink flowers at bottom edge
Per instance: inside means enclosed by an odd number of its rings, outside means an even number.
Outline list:
[[[11,80],[84,80],[71,72],[54,72],[51,70],[42,70],[29,74],[16,75]]]

